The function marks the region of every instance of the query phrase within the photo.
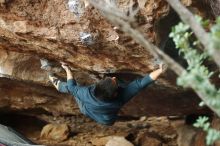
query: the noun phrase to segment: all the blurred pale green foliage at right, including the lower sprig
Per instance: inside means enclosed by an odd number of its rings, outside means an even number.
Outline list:
[[[217,23],[214,25],[214,29],[212,27],[211,36],[218,36],[215,30],[219,26]],[[173,27],[172,33],[170,33],[170,37],[173,38],[176,48],[179,49],[179,53],[181,53],[188,62],[187,71],[178,78],[177,84],[185,88],[191,87],[195,91],[202,93],[204,96],[202,97],[203,102],[200,105],[206,104],[219,116],[220,90],[217,90],[209,81],[213,73],[203,65],[208,55],[206,52],[199,53],[198,50],[194,48],[197,46],[198,41],[194,41],[194,43],[191,44],[190,38],[192,38],[192,35],[193,33],[190,31],[190,27],[184,23],[179,23]],[[194,126],[203,128],[203,130],[207,132],[206,143],[208,145],[220,138],[220,132],[210,128],[207,117],[200,117]]]

